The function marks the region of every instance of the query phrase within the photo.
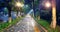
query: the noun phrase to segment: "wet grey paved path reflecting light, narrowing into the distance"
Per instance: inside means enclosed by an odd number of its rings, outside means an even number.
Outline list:
[[[13,25],[4,32],[42,32],[41,27],[35,22],[35,20],[27,15],[24,19],[20,20],[16,25]],[[44,32],[44,31],[43,31]]]

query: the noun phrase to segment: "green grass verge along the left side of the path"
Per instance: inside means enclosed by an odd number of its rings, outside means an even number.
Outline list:
[[[11,26],[15,25],[18,21],[21,20],[21,18],[23,18],[23,17],[19,17],[19,18],[13,19],[11,21],[11,23],[9,23],[9,21],[0,23],[0,32],[2,32],[4,29],[8,28],[10,25]]]

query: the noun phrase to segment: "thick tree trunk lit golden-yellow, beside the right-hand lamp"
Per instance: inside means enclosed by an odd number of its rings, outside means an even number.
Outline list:
[[[56,28],[56,2],[55,0],[52,0],[52,22],[51,22],[51,28]]]

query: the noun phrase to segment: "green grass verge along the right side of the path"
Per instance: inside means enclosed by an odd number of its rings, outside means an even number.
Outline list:
[[[37,19],[35,19],[35,20],[37,20]],[[37,23],[40,24],[41,26],[43,26],[48,32],[58,32],[58,28],[56,27],[55,30],[52,29],[50,27],[50,24],[46,20],[43,20],[43,19],[37,20]]]

